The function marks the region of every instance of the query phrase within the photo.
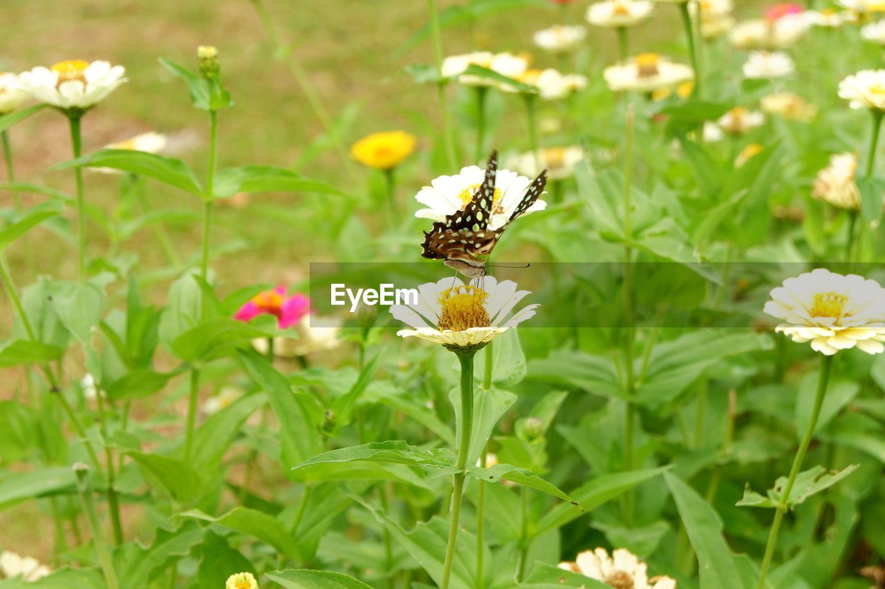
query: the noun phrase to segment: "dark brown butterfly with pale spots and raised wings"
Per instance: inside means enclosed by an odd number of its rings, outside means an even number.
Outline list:
[[[473,193],[464,209],[456,210],[443,221],[437,221],[429,232],[424,232],[424,249],[421,256],[445,260],[444,264],[461,272],[467,278],[486,275],[486,258],[495,249],[501,234],[513,219],[535,204],[547,185],[544,170],[528,187],[526,194],[513,210],[504,225],[489,229],[492,204],[495,200],[495,177],[497,174],[497,151],[492,151],[486,164],[482,184]]]

